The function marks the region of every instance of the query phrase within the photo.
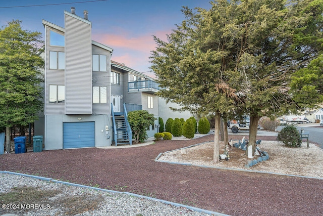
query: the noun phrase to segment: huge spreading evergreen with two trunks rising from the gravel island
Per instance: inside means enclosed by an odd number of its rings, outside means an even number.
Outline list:
[[[154,37],[152,69],[159,96],[197,113],[216,115],[213,161],[219,161],[220,115],[250,114],[255,147],[261,116],[296,105],[290,75],[315,58],[322,42],[322,0],[219,0],[210,10],[184,8],[186,19]]]

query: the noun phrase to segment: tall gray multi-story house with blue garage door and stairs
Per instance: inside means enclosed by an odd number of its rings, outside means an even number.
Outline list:
[[[92,23],[83,14],[65,11],[65,27],[42,20],[45,105],[35,129],[43,125],[45,150],[131,145],[126,114],[133,110],[153,113],[157,120],[147,134],[158,132],[157,83],[111,61],[113,49],[91,39]]]

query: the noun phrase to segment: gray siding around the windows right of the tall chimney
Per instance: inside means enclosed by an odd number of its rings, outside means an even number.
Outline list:
[[[106,55],[106,72],[92,72],[92,86],[106,87],[106,104],[93,104],[93,114],[110,114],[110,52],[92,45],[92,54]],[[92,57],[91,57],[92,58]],[[92,90],[91,90],[92,92]]]

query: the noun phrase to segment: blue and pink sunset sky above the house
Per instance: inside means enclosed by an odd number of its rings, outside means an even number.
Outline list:
[[[210,0],[0,0],[0,24],[21,20],[23,29],[44,33],[41,20],[64,27],[64,11],[76,8],[83,17],[88,11],[92,39],[114,49],[112,60],[146,75],[150,51],[155,49],[152,35],[166,39],[184,20],[182,6],[210,8]],[[31,7],[29,7],[31,6]]]

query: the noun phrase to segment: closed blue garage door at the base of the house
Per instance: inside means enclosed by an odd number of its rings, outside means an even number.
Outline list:
[[[63,123],[64,149],[94,146],[94,122]]]

